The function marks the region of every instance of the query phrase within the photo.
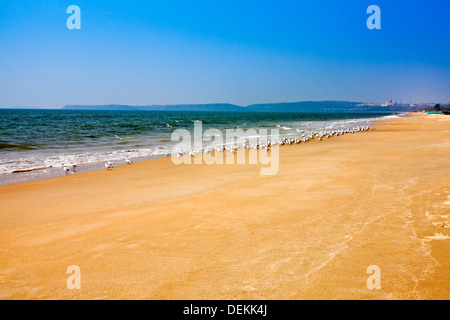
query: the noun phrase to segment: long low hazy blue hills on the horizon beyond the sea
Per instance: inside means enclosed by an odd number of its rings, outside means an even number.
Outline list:
[[[252,104],[246,107],[229,103],[180,105],[67,105],[66,110],[148,110],[148,111],[246,111],[246,112],[397,112],[412,108],[404,105],[381,106],[351,101],[300,101]]]

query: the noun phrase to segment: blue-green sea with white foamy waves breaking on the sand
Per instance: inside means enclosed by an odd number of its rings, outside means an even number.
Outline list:
[[[78,164],[88,170],[107,160],[122,164],[124,158],[161,157],[177,143],[171,141],[172,132],[180,128],[192,132],[195,121],[202,121],[203,130],[222,130],[224,136],[226,129],[239,126],[242,129],[277,128],[280,136],[294,137],[303,131],[352,128],[367,125],[373,119],[396,116],[385,113],[0,109],[0,184],[64,175],[62,164]],[[49,169],[53,169],[50,174]]]

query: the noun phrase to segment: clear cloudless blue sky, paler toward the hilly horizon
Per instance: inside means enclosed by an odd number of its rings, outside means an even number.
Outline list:
[[[450,102],[450,1],[0,1],[0,107],[391,98]]]

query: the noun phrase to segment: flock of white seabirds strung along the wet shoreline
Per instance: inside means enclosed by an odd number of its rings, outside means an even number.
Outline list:
[[[340,129],[340,130],[328,130],[328,131],[318,131],[318,132],[311,132],[309,134],[303,134],[300,137],[297,138],[282,138],[279,139],[278,141],[269,141],[267,143],[256,143],[256,144],[243,144],[241,146],[237,146],[237,145],[233,145],[233,146],[219,146],[219,147],[214,147],[214,148],[208,148],[203,152],[206,153],[212,153],[212,152],[223,152],[223,151],[227,151],[230,153],[235,153],[237,150],[241,149],[241,148],[246,148],[248,150],[251,149],[266,149],[267,151],[270,150],[271,147],[276,146],[276,145],[291,145],[291,144],[299,144],[299,143],[305,143],[308,142],[310,140],[313,140],[315,138],[317,138],[317,140],[322,141],[324,138],[331,138],[334,136],[341,136],[344,135],[346,133],[357,133],[357,132],[363,132],[363,131],[367,131],[369,129],[374,129],[374,127],[368,127],[368,126],[360,126],[360,127],[355,127],[352,129]],[[117,139],[122,140],[122,138],[115,136]],[[202,153],[201,150],[191,150],[187,153],[185,153],[184,151],[179,151],[177,156],[178,157],[183,157],[185,154],[189,154],[192,157],[197,156],[198,154]],[[166,153],[166,157],[170,157],[172,156],[170,153]],[[127,165],[132,164],[133,161],[131,161],[130,159],[123,159],[125,161],[125,163]],[[62,164],[63,169],[65,171],[66,174],[73,174],[76,172],[76,168],[77,165],[74,164],[69,164],[69,165],[64,165]],[[111,160],[108,160],[105,163],[105,168],[107,170],[109,169],[113,169],[115,167],[115,163],[112,162]]]

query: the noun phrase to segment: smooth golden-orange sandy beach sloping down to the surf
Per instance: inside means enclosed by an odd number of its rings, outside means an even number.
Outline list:
[[[0,299],[449,299],[450,116],[377,124],[282,146],[273,176],[162,158],[0,186]]]

